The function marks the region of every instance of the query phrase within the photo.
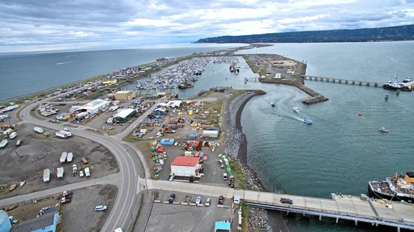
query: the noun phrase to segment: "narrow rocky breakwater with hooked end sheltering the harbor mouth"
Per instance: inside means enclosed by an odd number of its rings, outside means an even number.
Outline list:
[[[315,90],[306,87],[306,85],[297,82],[297,81],[290,81],[290,80],[283,80],[283,79],[270,79],[270,78],[259,78],[259,82],[261,83],[277,83],[277,84],[284,84],[284,85],[293,85],[295,87],[297,87],[298,89],[301,89],[303,92],[305,92],[306,94],[309,94],[309,96],[307,99],[305,99],[304,101],[302,101],[302,103],[306,104],[306,105],[311,105],[311,104],[315,104],[315,103],[321,103],[323,101],[328,101],[329,98],[327,98],[326,96],[316,92]]]

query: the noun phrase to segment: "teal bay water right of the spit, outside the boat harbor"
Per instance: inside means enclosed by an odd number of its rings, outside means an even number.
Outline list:
[[[278,44],[248,52],[284,54],[307,61],[306,74],[386,82],[414,74],[414,42]],[[244,51],[246,52],[246,51]],[[413,171],[414,92],[306,81],[329,101],[304,105],[295,87],[263,87],[268,94],[244,108],[248,162],[272,190],[329,198],[359,196],[369,180]],[[384,100],[389,94],[388,101]],[[270,107],[274,102],[276,107]],[[299,114],[293,111],[299,107]],[[363,116],[358,116],[362,112]],[[311,118],[313,125],[300,119]],[[389,133],[378,129],[386,127]],[[258,168],[260,167],[260,168]],[[291,231],[387,231],[389,228],[292,215]],[[393,229],[396,230],[396,229]]]

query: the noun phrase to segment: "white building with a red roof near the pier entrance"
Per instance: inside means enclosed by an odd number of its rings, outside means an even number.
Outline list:
[[[199,177],[201,164],[198,157],[177,156],[171,162],[171,172],[174,176],[195,176]]]

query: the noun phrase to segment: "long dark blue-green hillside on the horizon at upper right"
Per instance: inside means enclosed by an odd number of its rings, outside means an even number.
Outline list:
[[[363,28],[355,30],[318,30],[219,36],[199,39],[195,43],[323,43],[414,40],[414,25],[389,28]]]

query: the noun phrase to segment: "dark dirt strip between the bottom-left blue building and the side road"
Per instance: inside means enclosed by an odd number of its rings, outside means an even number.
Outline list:
[[[47,198],[46,200],[37,201],[36,203],[28,203],[20,205],[19,207],[8,211],[9,216],[14,216],[14,220],[19,222],[24,220],[29,220],[36,218],[39,215],[39,211],[43,207],[54,207],[56,204],[59,204],[59,200],[54,198]]]

